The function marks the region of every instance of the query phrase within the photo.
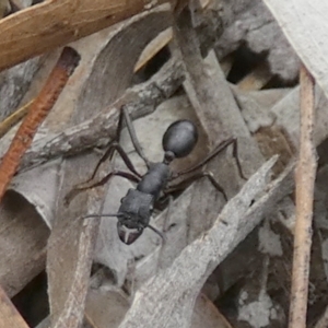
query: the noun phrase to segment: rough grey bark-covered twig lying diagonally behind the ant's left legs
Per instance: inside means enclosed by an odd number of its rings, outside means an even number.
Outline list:
[[[50,138],[34,142],[23,157],[20,169],[37,166],[59,156],[71,156],[87,149],[104,147],[108,138],[115,137],[122,105],[127,105],[133,119],[145,116],[171,97],[181,85],[184,78],[181,65],[175,59],[169,60],[150,81],[128,89],[106,112]]]

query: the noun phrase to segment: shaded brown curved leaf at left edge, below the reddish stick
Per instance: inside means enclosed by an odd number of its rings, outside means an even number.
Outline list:
[[[35,208],[9,191],[0,208],[0,284],[14,296],[45,268],[49,229]]]

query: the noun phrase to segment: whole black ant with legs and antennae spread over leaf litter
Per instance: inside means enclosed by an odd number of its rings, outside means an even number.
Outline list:
[[[108,149],[108,151],[105,153],[105,155],[102,157],[99,163],[97,164],[93,176],[91,179],[94,178],[95,173],[97,168],[99,167],[101,162],[104,162],[107,160],[108,156],[113,155],[114,150],[118,151],[118,153],[121,155],[125,164],[130,169],[130,172],[122,172],[114,169],[110,172],[107,176],[105,176],[101,181],[93,184],[89,187],[82,187],[82,188],[74,188],[72,190],[72,195],[68,195],[68,198],[71,198],[75,195],[75,191],[85,190],[89,188],[93,188],[99,185],[105,184],[112,176],[118,175],[125,178],[128,178],[132,181],[137,183],[136,189],[130,188],[125,197],[120,200],[120,207],[118,209],[117,213],[110,213],[110,214],[90,214],[84,216],[86,218],[101,218],[101,216],[116,216],[117,218],[117,232],[120,241],[127,245],[132,244],[136,242],[140,235],[142,234],[143,230],[145,227],[151,229],[154,231],[157,235],[162,237],[164,241],[164,235],[150,225],[150,219],[152,216],[154,207],[156,201],[162,196],[162,192],[165,192],[165,189],[167,188],[167,184],[172,181],[173,179],[176,179],[177,177],[185,175],[187,173],[191,173],[200,167],[202,167],[208,161],[210,161],[214,155],[216,155],[221,150],[226,148],[229,144],[233,143],[236,145],[236,140],[234,138],[230,138],[229,140],[221,143],[209,156],[207,156],[204,160],[201,161],[201,163],[192,166],[189,169],[186,169],[184,172],[174,173],[172,172],[169,164],[175,159],[180,159],[187,156],[195,148],[197,141],[198,141],[198,131],[195,126],[195,124],[190,120],[183,119],[177,120],[173,122],[167,130],[165,131],[163,139],[162,139],[162,147],[164,150],[164,157],[162,162],[151,163],[148,161],[145,155],[143,154],[143,151],[139,144],[138,138],[136,136],[134,128],[132,126],[131,119],[129,117],[129,114],[127,109],[122,108],[122,116],[120,118],[118,129],[121,129],[121,120],[122,117],[126,120],[126,125],[129,131],[129,134],[131,137],[132,143],[134,145],[136,151],[140,155],[141,159],[145,162],[145,165],[148,167],[147,173],[141,176],[134,168],[133,164],[129,160],[126,152],[121,149],[119,143],[113,142]],[[234,147],[235,149],[235,147]],[[238,164],[238,163],[237,163]],[[239,168],[239,164],[238,164]],[[241,169],[239,169],[241,171]],[[194,176],[187,178],[183,184],[190,183],[195,179],[198,179],[200,177],[208,177],[210,181],[214,185],[216,189],[219,189],[224,198],[226,199],[226,195],[224,194],[221,186],[215,181],[212,174],[210,172],[200,172],[195,174]],[[177,185],[178,186],[178,185]]]

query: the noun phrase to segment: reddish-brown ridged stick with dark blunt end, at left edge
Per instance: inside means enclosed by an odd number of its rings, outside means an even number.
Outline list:
[[[79,61],[79,54],[73,48],[66,47],[46,84],[32,104],[0,164],[0,200],[16,173],[22,156],[30,148],[38,126],[47,117]]]

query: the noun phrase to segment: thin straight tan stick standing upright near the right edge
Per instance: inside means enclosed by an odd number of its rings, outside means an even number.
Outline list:
[[[289,328],[306,327],[307,288],[312,244],[313,196],[317,159],[313,142],[314,79],[301,68],[301,140],[296,165],[296,224]]]

